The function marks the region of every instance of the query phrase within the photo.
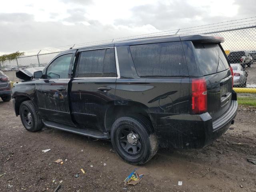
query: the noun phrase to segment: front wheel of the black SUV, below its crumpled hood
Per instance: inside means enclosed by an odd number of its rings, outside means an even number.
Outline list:
[[[26,130],[30,132],[42,129],[42,120],[36,112],[32,101],[24,101],[20,105],[20,119]]]

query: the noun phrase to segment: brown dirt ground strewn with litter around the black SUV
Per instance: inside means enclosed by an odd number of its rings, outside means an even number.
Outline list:
[[[136,186],[124,186],[136,166],[121,160],[110,142],[51,128],[28,132],[12,102],[1,100],[0,175],[6,174],[0,191],[52,192],[62,180],[59,192],[256,192],[256,165],[246,160],[256,158],[255,138],[256,108],[240,106],[235,124],[218,140],[200,150],[160,149],[143,166],[149,174]],[[54,163],[57,159],[64,163]]]

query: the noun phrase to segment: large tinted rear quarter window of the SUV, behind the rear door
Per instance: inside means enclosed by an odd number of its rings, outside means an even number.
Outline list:
[[[134,45],[130,51],[140,77],[188,76],[181,42]]]

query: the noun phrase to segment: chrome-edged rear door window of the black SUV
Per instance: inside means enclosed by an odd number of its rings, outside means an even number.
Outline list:
[[[76,77],[116,77],[114,48],[81,52]]]

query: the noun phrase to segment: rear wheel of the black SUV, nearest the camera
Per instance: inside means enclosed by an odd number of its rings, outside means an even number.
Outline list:
[[[158,140],[151,122],[144,116],[118,118],[111,128],[114,150],[130,164],[145,164],[158,150]]]

